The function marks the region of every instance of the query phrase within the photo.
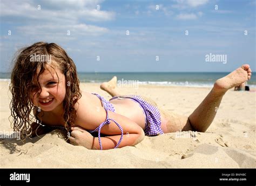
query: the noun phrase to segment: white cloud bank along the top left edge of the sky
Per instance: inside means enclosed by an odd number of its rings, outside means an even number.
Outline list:
[[[94,22],[115,18],[115,13],[97,10],[102,1],[0,1],[1,17],[30,18],[47,22],[74,22],[78,19]],[[39,7],[40,6],[40,7]],[[100,6],[99,6],[100,7]],[[38,10],[40,8],[40,10]]]

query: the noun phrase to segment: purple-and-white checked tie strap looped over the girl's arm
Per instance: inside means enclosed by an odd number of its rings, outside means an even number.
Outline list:
[[[92,93],[92,94],[93,94],[93,93]],[[101,98],[98,94],[94,94],[94,95],[96,95],[96,96],[100,99],[100,101],[102,102],[102,104],[104,105],[104,102],[102,101],[102,98]],[[121,137],[120,137],[120,139],[119,139],[117,145],[116,145],[114,148],[117,148],[117,147],[120,145],[121,141],[123,140],[123,136],[124,136],[124,131],[123,131],[122,126],[120,126],[120,124],[118,124],[117,121],[115,121],[115,120],[109,118],[109,111],[107,111],[105,105],[104,105],[104,109],[105,109],[105,111],[106,111],[106,120],[105,120],[103,123],[101,123],[95,130],[91,131],[91,132],[97,132],[97,131],[98,131],[98,139],[99,139],[99,147],[100,147],[100,150],[103,150],[103,148],[102,148],[102,140],[100,139],[100,131],[102,130],[102,127],[103,127],[104,125],[109,125],[109,124],[110,124],[110,120],[113,121],[115,124],[117,124],[118,128],[119,128],[120,131],[121,131]]]

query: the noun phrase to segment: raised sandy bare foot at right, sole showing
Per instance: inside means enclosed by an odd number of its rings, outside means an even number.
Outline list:
[[[237,87],[238,85],[250,80],[252,70],[250,65],[242,65],[240,68],[232,71],[232,73],[220,78],[214,83],[213,89],[219,92],[226,92],[228,89]]]

